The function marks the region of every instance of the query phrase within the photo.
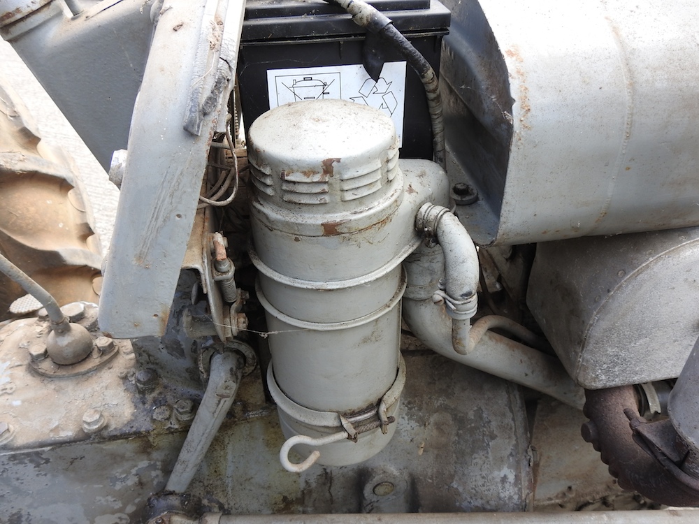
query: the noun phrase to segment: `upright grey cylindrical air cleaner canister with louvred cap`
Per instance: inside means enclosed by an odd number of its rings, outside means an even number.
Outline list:
[[[251,257],[282,429],[329,435],[343,430],[341,415],[362,430],[357,442],[322,446],[319,463],[365,460],[395,426],[384,434],[378,410],[398,377],[401,261],[415,247],[410,224],[396,219],[404,182],[394,125],[365,105],[298,102],[259,117],[249,140]],[[396,398],[388,414],[397,407]],[[319,422],[323,414],[337,424]]]

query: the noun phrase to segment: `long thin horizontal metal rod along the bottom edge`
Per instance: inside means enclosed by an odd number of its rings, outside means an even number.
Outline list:
[[[170,520],[167,520],[169,517]],[[178,514],[162,518],[171,524],[665,524],[695,523],[697,511],[576,511],[570,513],[438,513],[344,515],[222,515],[207,513],[199,519]],[[154,522],[153,519],[150,522]]]

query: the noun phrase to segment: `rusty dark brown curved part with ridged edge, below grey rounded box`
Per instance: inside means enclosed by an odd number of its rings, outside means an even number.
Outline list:
[[[670,506],[699,504],[699,481],[682,472],[667,456],[661,456],[660,447],[654,449],[647,437],[653,439],[652,433],[661,436],[657,431],[640,430],[655,427],[661,432],[674,431],[665,424],[668,421],[645,424],[639,420],[633,386],[587,390],[585,394],[583,412],[590,421],[582,425],[582,437],[600,452],[621,488]],[[664,435],[665,443],[674,447],[675,435],[671,434],[670,439]]]

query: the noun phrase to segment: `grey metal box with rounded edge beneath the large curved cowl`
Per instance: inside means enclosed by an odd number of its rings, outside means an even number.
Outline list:
[[[527,304],[586,388],[679,376],[699,337],[699,228],[545,242]]]

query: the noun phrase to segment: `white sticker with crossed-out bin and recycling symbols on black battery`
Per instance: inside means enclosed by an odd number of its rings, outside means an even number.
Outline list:
[[[269,108],[289,102],[343,99],[382,110],[396,125],[403,145],[405,62],[387,62],[374,82],[364,66],[303,67],[267,71]]]

